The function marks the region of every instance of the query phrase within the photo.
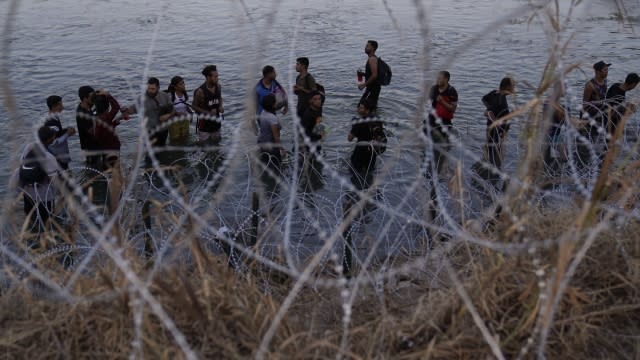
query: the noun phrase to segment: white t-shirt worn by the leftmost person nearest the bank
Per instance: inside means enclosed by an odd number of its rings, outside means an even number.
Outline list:
[[[29,144],[25,146],[22,151],[22,155],[20,156],[20,162],[22,163],[27,154],[33,149],[36,144]],[[48,202],[54,201],[57,195],[56,187],[52,181],[58,174],[58,162],[56,158],[51,155],[48,151],[43,151],[44,159],[40,162],[40,166],[42,169],[49,174],[49,177],[39,184],[26,185],[24,187],[20,186],[20,169],[16,169],[11,175],[11,180],[9,181],[9,186],[12,189],[17,189],[20,192],[24,192],[27,194],[34,202]]]

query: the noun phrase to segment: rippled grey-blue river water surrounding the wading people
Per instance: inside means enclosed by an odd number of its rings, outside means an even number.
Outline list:
[[[3,21],[9,17],[8,3],[0,4]],[[566,13],[568,1],[561,3]],[[380,107],[385,117],[399,122],[385,157],[401,161],[388,171],[387,186],[401,190],[416,177],[417,160],[403,153],[415,150],[408,135],[416,132],[416,114],[423,113],[417,108],[421,89],[441,69],[451,72],[451,84],[460,95],[454,120],[459,142],[478,156],[485,127],[482,95],[511,75],[518,81],[512,103],[522,105],[533,94],[526,84],[536,86],[540,81],[552,43],[539,18],[530,18],[532,11],[523,0],[394,0],[386,4],[388,9],[384,1],[370,0],[19,1],[15,16],[10,17],[13,30],[3,35],[10,43],[10,52],[3,56],[17,112],[10,116],[6,102],[2,104],[0,134],[5,146],[0,150],[0,193],[5,192],[20,147],[33,139],[42,121],[48,95],[63,97],[64,123],[75,125],[81,85],[107,89],[127,104],[141,93],[147,76],[160,78],[164,88],[172,76],[181,75],[192,91],[203,80],[202,67],[216,64],[227,112],[222,144],[228,149],[233,131],[245,118],[245,101],[260,77],[259,69],[275,66],[278,79],[290,89],[298,56],[310,58],[310,72],[326,88],[324,121],[330,132],[324,149],[327,162],[338,164],[352,149],[346,137],[361,95],[355,72],[366,60],[367,39],[380,43],[378,55],[394,74],[392,84],[382,90]],[[592,76],[591,64],[600,59],[613,63],[611,83],[639,70],[640,42],[634,27],[640,24],[640,5],[627,1],[625,6],[630,15],[626,23],[619,20],[613,1],[584,1],[572,14],[563,36],[574,38],[564,62],[582,65],[569,76],[570,98],[581,96],[582,84]],[[427,25],[426,38],[421,24]],[[638,97],[637,92],[629,96]],[[283,141],[291,148],[291,115],[281,122]],[[508,142],[511,154],[521,151],[519,130],[516,121]],[[138,131],[136,120],[118,127],[125,173],[137,149]],[[77,138],[71,148],[75,165],[81,166]],[[517,158],[509,157],[510,168]],[[341,171],[338,165],[333,169]],[[339,209],[335,193],[344,184],[329,170],[318,196]],[[242,171],[240,180],[248,173]],[[228,198],[234,204],[240,202],[234,197],[246,197],[246,189],[246,181],[240,181]],[[335,221],[340,214],[328,217],[329,222]]]

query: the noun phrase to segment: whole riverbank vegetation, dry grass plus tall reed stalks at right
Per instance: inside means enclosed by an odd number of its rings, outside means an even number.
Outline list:
[[[621,2],[615,3],[622,13]],[[613,135],[586,196],[572,192],[563,206],[540,201],[549,181],[539,151],[549,127],[542,100],[558,79],[578,68],[559,65],[571,36],[561,36],[558,1],[550,4],[536,16],[553,30],[555,52],[536,98],[514,112],[526,124],[520,136],[526,152],[490,215],[463,215],[446,241],[425,244],[412,254],[375,266],[358,261],[347,278],[342,259],[331,257],[329,246],[294,265],[286,253],[261,257],[257,247],[243,248],[237,236],[220,232],[217,240],[226,244],[220,247],[235,245],[253,255],[241,271],[231,269],[220,251],[203,247],[204,226],[196,216],[163,213],[161,205],[153,216],[174,233],[173,251],[146,259],[121,246],[140,240],[136,215],[121,207],[118,225],[111,223],[119,231],[112,234],[113,228],[96,226],[83,204],[68,196],[68,209],[82,225],[50,231],[45,242],[72,249],[83,231],[97,246],[67,271],[55,253],[40,250],[22,257],[12,251],[26,242],[24,232],[13,228],[3,235],[0,280],[10,286],[0,287],[0,356],[640,358],[640,188],[635,181],[640,160],[630,156],[637,145],[616,145],[624,126]],[[465,188],[460,164],[453,164],[457,181],[448,190],[464,199],[473,190]],[[177,196],[186,197],[179,190]],[[335,238],[371,193],[361,191],[365,196],[344,210]],[[433,205],[426,193],[416,193],[424,197],[425,208]],[[261,201],[265,197],[261,194]],[[216,206],[222,198],[216,196]],[[20,217],[16,204],[2,204],[4,226]],[[426,216],[423,221],[430,225]],[[248,222],[257,228],[257,220]]]

